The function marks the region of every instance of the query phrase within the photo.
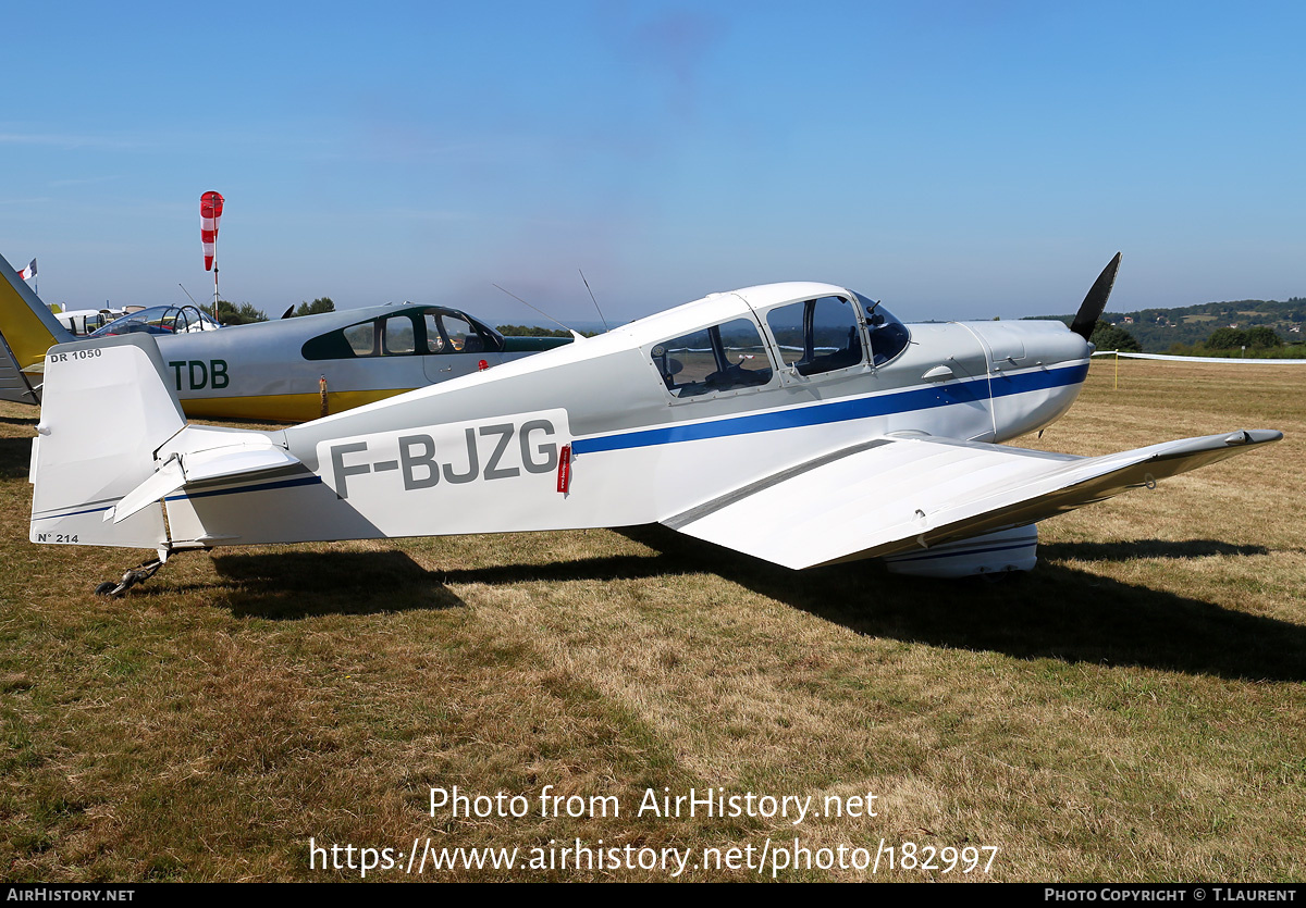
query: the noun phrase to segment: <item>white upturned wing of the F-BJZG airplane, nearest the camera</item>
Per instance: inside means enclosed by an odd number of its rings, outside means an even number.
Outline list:
[[[1239,431],[1102,457],[896,434],[825,454],[662,521],[786,568],[1027,526],[1222,461],[1281,432]]]

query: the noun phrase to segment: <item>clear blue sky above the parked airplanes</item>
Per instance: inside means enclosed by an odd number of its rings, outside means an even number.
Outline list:
[[[9,17],[0,252],[46,301],[904,318],[1306,295],[1298,3],[60,3]]]

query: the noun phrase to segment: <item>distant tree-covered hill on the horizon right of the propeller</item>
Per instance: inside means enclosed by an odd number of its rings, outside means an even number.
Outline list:
[[[1032,316],[1071,324],[1074,316]],[[1263,325],[1286,344],[1306,340],[1306,297],[1279,300],[1235,300],[1233,303],[1198,303],[1175,309],[1138,309],[1104,312],[1102,320],[1123,327],[1138,338],[1144,352],[1165,354],[1175,344],[1191,347],[1211,337],[1217,327],[1246,330]],[[1297,329],[1296,331],[1293,329]]]

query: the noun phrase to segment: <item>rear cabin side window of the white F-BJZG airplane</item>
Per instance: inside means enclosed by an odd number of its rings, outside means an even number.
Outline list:
[[[650,352],[666,390],[678,398],[757,387],[772,376],[767,347],[751,318],[663,340]]]

